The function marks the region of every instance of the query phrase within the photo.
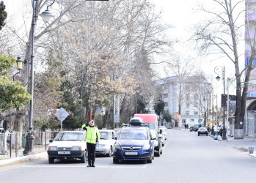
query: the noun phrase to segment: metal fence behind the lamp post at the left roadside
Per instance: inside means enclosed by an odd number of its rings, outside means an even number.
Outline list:
[[[34,147],[30,154],[46,152],[49,140],[54,139],[59,132],[33,132]],[[0,159],[21,157],[24,154],[26,135],[28,132],[0,133]]]

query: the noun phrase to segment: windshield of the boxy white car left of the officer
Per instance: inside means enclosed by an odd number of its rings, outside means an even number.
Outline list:
[[[84,135],[81,132],[59,132],[54,141],[84,141]]]

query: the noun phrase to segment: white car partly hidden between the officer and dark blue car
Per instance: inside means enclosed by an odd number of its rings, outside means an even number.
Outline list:
[[[113,155],[114,143],[117,140],[117,134],[114,130],[99,130],[100,141],[99,145],[96,146],[95,154],[98,155]]]

